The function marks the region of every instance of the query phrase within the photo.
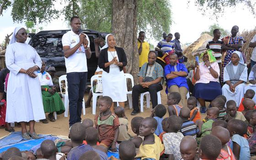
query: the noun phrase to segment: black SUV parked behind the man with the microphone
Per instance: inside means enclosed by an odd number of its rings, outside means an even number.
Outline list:
[[[65,75],[66,67],[64,60],[64,52],[62,46],[62,36],[70,30],[54,30],[54,31],[41,31],[37,34],[30,33],[30,44],[36,49],[37,53],[43,61],[46,62],[46,69],[49,66],[53,66],[56,69],[56,75]],[[108,33],[100,33],[94,30],[83,30],[90,39],[91,58],[87,59],[88,76],[87,83],[90,82],[91,76],[94,75],[97,66],[98,58],[95,55],[94,39],[97,37],[103,37],[105,39]]]

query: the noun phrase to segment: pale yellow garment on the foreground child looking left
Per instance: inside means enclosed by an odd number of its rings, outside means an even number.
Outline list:
[[[157,135],[155,135],[155,144],[140,144],[139,153],[135,158],[141,158],[144,160],[146,158],[153,158],[155,160],[160,159],[161,152],[165,149],[164,144],[161,143],[161,140]]]

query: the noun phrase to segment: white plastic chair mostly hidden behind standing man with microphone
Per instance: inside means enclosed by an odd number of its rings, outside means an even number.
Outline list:
[[[61,81],[62,80],[65,81],[65,89],[66,89],[65,94],[61,90]],[[61,95],[64,98],[64,107],[65,107],[64,117],[68,117],[68,115],[69,115],[69,93],[68,93],[67,75],[62,75],[59,77],[59,87],[60,87]],[[85,98],[83,98],[82,104],[83,104],[83,115],[85,115]]]

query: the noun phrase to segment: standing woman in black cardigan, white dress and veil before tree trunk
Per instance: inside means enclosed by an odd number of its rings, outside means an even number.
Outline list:
[[[123,73],[123,67],[127,64],[126,54],[123,48],[116,47],[114,35],[106,36],[106,44],[101,48],[98,65],[102,72],[102,94],[109,96],[113,102],[118,102],[124,107],[127,101],[126,79]],[[114,103],[112,103],[111,111],[114,111]]]

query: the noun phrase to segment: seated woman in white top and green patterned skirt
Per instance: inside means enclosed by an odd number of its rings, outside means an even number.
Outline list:
[[[65,112],[64,104],[56,92],[53,86],[53,81],[51,75],[45,71],[45,62],[42,63],[41,71],[38,72],[38,78],[41,85],[42,98],[43,98],[43,110],[45,113],[49,113],[48,117],[50,121],[55,122],[53,112],[61,114]],[[47,119],[42,120],[43,123],[48,123]]]

